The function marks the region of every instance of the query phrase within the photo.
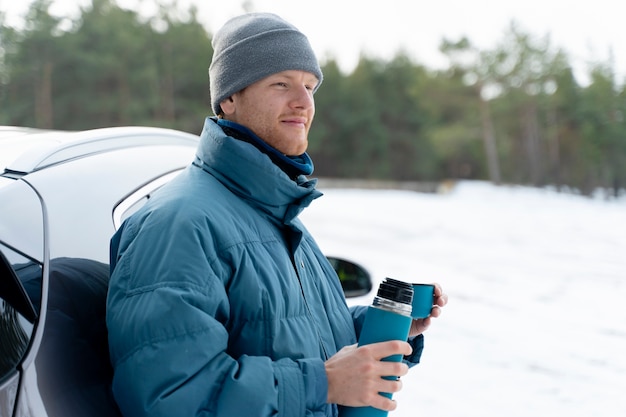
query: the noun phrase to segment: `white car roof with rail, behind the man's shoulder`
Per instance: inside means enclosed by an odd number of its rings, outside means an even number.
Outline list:
[[[0,129],[0,169],[21,176],[94,153],[168,144],[196,146],[198,136],[173,129],[144,126],[86,131]]]

